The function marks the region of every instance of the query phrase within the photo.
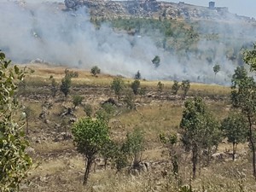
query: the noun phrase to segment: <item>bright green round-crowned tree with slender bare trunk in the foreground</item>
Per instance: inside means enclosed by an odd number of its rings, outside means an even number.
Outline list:
[[[76,122],[72,127],[73,142],[80,154],[86,158],[84,172],[84,185],[86,185],[90,167],[104,147],[109,142],[108,125],[100,119],[84,118]]]

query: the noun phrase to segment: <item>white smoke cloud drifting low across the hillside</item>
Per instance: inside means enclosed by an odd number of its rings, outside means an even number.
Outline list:
[[[40,58],[57,65],[90,69],[97,65],[104,73],[133,77],[139,70],[145,79],[190,79],[211,82],[212,65],[197,55],[178,59],[174,53],[155,46],[147,37],[129,36],[113,32],[109,26],[98,30],[90,23],[86,9],[63,11],[52,3],[0,3],[0,49],[15,62],[29,62]],[[201,42],[201,49],[212,44]],[[214,45],[215,46],[215,45]],[[224,63],[218,82],[233,73],[218,44],[216,62]],[[152,64],[159,55],[160,67]],[[214,63],[213,62],[213,63]]]

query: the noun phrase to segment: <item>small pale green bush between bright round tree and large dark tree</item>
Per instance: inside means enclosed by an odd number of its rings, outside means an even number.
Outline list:
[[[133,164],[137,164],[141,160],[144,149],[145,141],[143,131],[136,127],[131,133],[127,133],[121,151],[132,159]]]

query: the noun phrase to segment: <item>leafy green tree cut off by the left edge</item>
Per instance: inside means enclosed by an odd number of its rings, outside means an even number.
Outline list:
[[[0,191],[3,192],[19,190],[32,166],[32,159],[25,152],[28,142],[23,125],[14,118],[19,108],[15,98],[17,83],[24,76],[19,67],[10,67],[10,61],[0,50]]]

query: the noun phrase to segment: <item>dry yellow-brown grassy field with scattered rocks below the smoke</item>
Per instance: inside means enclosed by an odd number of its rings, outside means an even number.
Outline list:
[[[115,108],[113,118],[109,121],[111,137],[123,141],[127,132],[134,127],[143,130],[146,149],[143,161],[148,162],[148,172],[139,175],[128,174],[127,171],[116,172],[111,162],[105,170],[101,162],[97,162],[90,173],[86,187],[84,177],[84,157],[77,153],[71,138],[64,139],[64,133],[70,133],[72,118],[85,116],[82,106],[74,108],[74,116],[63,116],[67,108],[73,108],[73,96],[84,96],[83,104],[90,103],[93,113],[100,108],[100,102],[115,98],[110,84],[113,77],[99,74],[93,77],[89,72],[70,69],[79,73],[79,78],[72,79],[72,91],[67,99],[58,91],[55,98],[50,96],[50,75],[60,84],[64,77],[63,67],[29,66],[35,70],[26,78],[26,86],[19,90],[20,103],[32,110],[29,117],[29,135],[34,167],[29,172],[28,182],[20,186],[26,192],[54,191],[186,191],[183,185],[191,185],[196,191],[255,191],[255,180],[252,177],[251,157],[247,143],[239,144],[237,159],[232,161],[232,146],[224,141],[219,144],[222,158],[212,159],[208,166],[201,165],[195,180],[191,180],[190,155],[180,149],[181,159],[179,178],[172,174],[172,163],[167,148],[160,143],[160,132],[179,132],[179,124],[183,113],[182,91],[172,96],[172,82],[162,81],[164,90],[157,90],[158,81],[143,81],[146,87],[145,96],[136,96],[136,110],[130,110],[121,102]],[[126,89],[133,79],[125,79]],[[224,119],[230,109],[230,88],[219,85],[191,84],[189,96],[202,96],[216,118]],[[123,97],[121,97],[122,99]],[[39,118],[47,108],[44,118]],[[162,172],[167,172],[162,177]],[[189,190],[188,190],[189,191]]]

